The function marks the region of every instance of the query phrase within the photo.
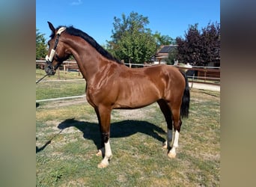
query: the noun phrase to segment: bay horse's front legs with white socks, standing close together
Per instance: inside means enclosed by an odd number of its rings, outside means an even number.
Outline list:
[[[110,147],[110,116],[111,109],[106,107],[99,107],[97,110],[97,117],[100,124],[100,132],[102,138],[102,146],[97,155],[102,155],[103,160],[98,165],[98,168],[106,168],[109,165],[109,160],[112,159],[112,150]]]

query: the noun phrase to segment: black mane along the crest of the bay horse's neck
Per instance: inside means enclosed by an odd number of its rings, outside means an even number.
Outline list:
[[[61,28],[61,27],[63,27],[63,26],[59,26],[58,28],[56,28],[56,30],[58,31],[58,29]],[[83,31],[81,31],[77,28],[73,28],[73,26],[66,27],[65,31],[67,31],[67,33],[70,34],[70,35],[77,36],[77,37],[82,37],[82,39],[84,39],[91,46],[93,46],[97,50],[97,52],[100,52],[101,55],[108,58],[109,60],[112,60],[112,61],[118,62],[118,64],[121,64],[121,61],[119,61],[117,58],[115,58],[113,55],[111,55],[109,52],[107,52],[106,49],[103,49],[103,47],[100,46],[100,44],[97,43],[97,41],[95,41],[94,38],[90,37],[85,32],[83,32]],[[52,33],[50,35],[51,38],[53,38],[54,36],[55,36],[54,33]]]

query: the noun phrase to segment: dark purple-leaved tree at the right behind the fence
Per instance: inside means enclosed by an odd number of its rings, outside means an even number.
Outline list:
[[[181,63],[207,66],[220,59],[219,24],[208,23],[206,28],[198,30],[198,24],[189,25],[185,39],[177,37],[177,59]]]

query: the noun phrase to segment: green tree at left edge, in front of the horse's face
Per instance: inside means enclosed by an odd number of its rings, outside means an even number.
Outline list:
[[[44,38],[45,34],[41,34],[39,29],[36,30],[36,58],[45,58],[47,55],[47,44]]]

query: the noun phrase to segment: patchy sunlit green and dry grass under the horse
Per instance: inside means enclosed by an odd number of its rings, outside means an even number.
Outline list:
[[[37,186],[219,186],[219,106],[219,92],[192,89],[176,159],[168,159],[162,149],[166,124],[156,104],[112,111],[113,159],[109,167],[100,169],[94,108],[85,99],[40,102]]]

